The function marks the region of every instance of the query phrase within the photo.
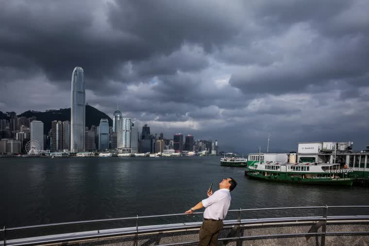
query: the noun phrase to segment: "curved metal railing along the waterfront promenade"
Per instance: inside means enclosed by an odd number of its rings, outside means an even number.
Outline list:
[[[367,221],[369,223],[369,215],[364,216],[328,216],[328,209],[329,208],[369,208],[369,206],[308,206],[308,207],[277,207],[277,208],[256,208],[256,209],[237,209],[237,210],[229,210],[229,213],[237,213],[237,220],[228,220],[225,221],[225,226],[233,227],[235,229],[235,237],[227,237],[227,238],[220,238],[218,241],[236,241],[236,245],[240,246],[243,240],[255,240],[255,239],[266,239],[266,238],[287,238],[287,237],[311,237],[311,236],[320,236],[321,237],[321,245],[325,245],[325,238],[326,236],[333,236],[333,235],[369,235],[369,231],[343,231],[343,232],[328,232],[326,231],[327,228],[327,220],[330,221],[346,221],[346,220],[359,220],[359,221]],[[275,210],[298,210],[298,209],[322,209],[323,213],[321,216],[315,217],[285,217],[285,218],[262,218],[255,220],[241,220],[242,212],[252,212],[252,211],[275,211]],[[159,231],[170,231],[170,230],[187,230],[187,229],[195,229],[199,228],[199,223],[189,223],[188,225],[181,225],[172,226],[168,225],[169,227],[157,227],[157,228],[144,228],[139,229],[139,219],[149,219],[149,218],[162,218],[162,217],[173,217],[173,216],[188,216],[188,215],[195,215],[195,214],[203,214],[203,212],[198,213],[174,213],[174,214],[161,214],[161,215],[148,215],[148,216],[134,216],[134,217],[122,217],[122,218],[110,218],[110,219],[97,219],[97,220],[84,220],[84,221],[74,221],[74,222],[63,222],[63,223],[53,223],[53,224],[44,224],[44,225],[34,225],[34,226],[23,226],[23,227],[14,227],[14,228],[7,228],[6,226],[3,229],[0,229],[0,232],[3,234],[2,246],[24,246],[24,245],[37,245],[37,244],[47,244],[47,243],[56,243],[56,242],[66,242],[66,241],[76,241],[82,239],[94,239],[94,238],[103,238],[103,237],[110,237],[110,236],[119,236],[119,235],[134,235],[135,237],[135,246],[138,244],[138,236],[144,233],[151,233],[151,232],[159,232]],[[126,220],[135,220],[135,230],[121,230],[121,231],[113,231],[113,232],[103,232],[101,233],[98,230],[96,234],[84,234],[84,235],[74,235],[69,237],[62,237],[62,238],[46,238],[42,240],[34,240],[34,241],[23,241],[17,243],[10,243],[7,244],[6,240],[6,233],[10,231],[17,231],[17,230],[29,230],[29,229],[41,229],[41,228],[50,228],[55,226],[70,226],[70,225],[78,225],[78,224],[89,224],[89,223],[98,223],[98,222],[111,222],[111,221],[126,221]],[[318,232],[318,229],[315,232],[306,232],[306,233],[289,233],[289,234],[270,234],[270,235],[255,235],[255,236],[241,236],[241,227],[251,224],[258,224],[258,223],[288,223],[288,222],[306,222],[306,223],[320,223],[321,232]],[[320,227],[319,226],[319,227]],[[0,241],[1,242],[1,241]],[[183,243],[175,243],[175,244],[167,244],[165,246],[181,246],[181,245],[190,245],[190,244],[197,244],[198,241],[191,241],[191,242],[183,242]],[[0,244],[1,246],[1,244]]]

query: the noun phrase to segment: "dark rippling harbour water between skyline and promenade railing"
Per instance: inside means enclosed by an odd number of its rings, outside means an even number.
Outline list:
[[[183,213],[206,197],[211,182],[215,191],[218,182],[227,177],[238,183],[231,209],[368,205],[368,188],[252,180],[245,177],[245,168],[221,166],[219,159],[1,158],[0,226]],[[304,216],[305,212],[296,213]],[[286,214],[273,212],[271,216],[276,215]]]

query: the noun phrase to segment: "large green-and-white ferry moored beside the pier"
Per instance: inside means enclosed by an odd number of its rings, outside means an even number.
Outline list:
[[[340,168],[340,164],[259,162],[249,166],[246,174],[260,180],[351,186],[352,172],[352,168]]]

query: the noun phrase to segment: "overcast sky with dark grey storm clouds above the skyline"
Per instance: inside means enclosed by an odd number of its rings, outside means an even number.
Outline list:
[[[86,101],[220,150],[369,144],[367,0],[0,0],[0,111]]]

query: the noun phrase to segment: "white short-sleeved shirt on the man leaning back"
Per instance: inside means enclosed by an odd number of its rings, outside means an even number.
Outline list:
[[[231,193],[229,189],[220,189],[201,202],[206,208],[204,212],[205,219],[224,219],[231,206]]]

